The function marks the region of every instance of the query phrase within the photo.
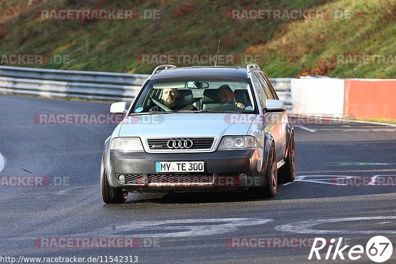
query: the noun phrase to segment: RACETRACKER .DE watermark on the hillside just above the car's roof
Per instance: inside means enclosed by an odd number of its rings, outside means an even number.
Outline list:
[[[214,65],[216,54],[138,54],[135,58],[139,64],[182,64],[182,65]],[[262,63],[264,58],[260,54],[218,54],[217,64],[247,64]]]

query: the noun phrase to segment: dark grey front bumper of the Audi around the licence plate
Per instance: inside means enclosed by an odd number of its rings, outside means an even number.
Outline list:
[[[258,157],[257,149],[161,154],[110,151],[106,171],[110,186],[127,191],[241,191],[264,184],[257,170]],[[156,161],[204,161],[204,172],[160,174],[155,172]],[[128,183],[118,179],[121,174]]]

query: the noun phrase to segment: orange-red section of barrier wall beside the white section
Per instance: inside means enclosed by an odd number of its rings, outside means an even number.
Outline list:
[[[345,80],[344,114],[396,119],[396,80]]]

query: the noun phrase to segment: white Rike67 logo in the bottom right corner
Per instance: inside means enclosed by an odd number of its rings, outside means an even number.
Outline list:
[[[376,263],[382,263],[389,260],[393,253],[393,246],[391,241],[384,236],[372,237],[367,242],[365,249],[362,245],[355,245],[352,247],[350,247],[350,245],[346,245],[342,247],[342,241],[342,237],[340,237],[338,240],[332,238],[330,239],[330,243],[328,244],[328,239],[315,237],[315,240],[313,241],[313,245],[311,247],[311,251],[309,252],[308,260],[312,260],[314,254],[317,260],[321,260],[319,251],[324,249],[325,247],[327,247],[327,252],[324,260],[337,260],[338,258],[340,258],[340,260],[345,260],[344,254],[346,254],[349,260],[356,261],[359,260],[362,255],[364,255],[364,253],[366,253],[367,257],[371,261]],[[335,249],[334,252],[332,252],[334,246]]]

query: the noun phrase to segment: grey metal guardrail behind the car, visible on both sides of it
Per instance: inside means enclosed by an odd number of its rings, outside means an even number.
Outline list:
[[[149,75],[0,66],[0,93],[132,101]],[[290,78],[270,79],[290,112]]]

